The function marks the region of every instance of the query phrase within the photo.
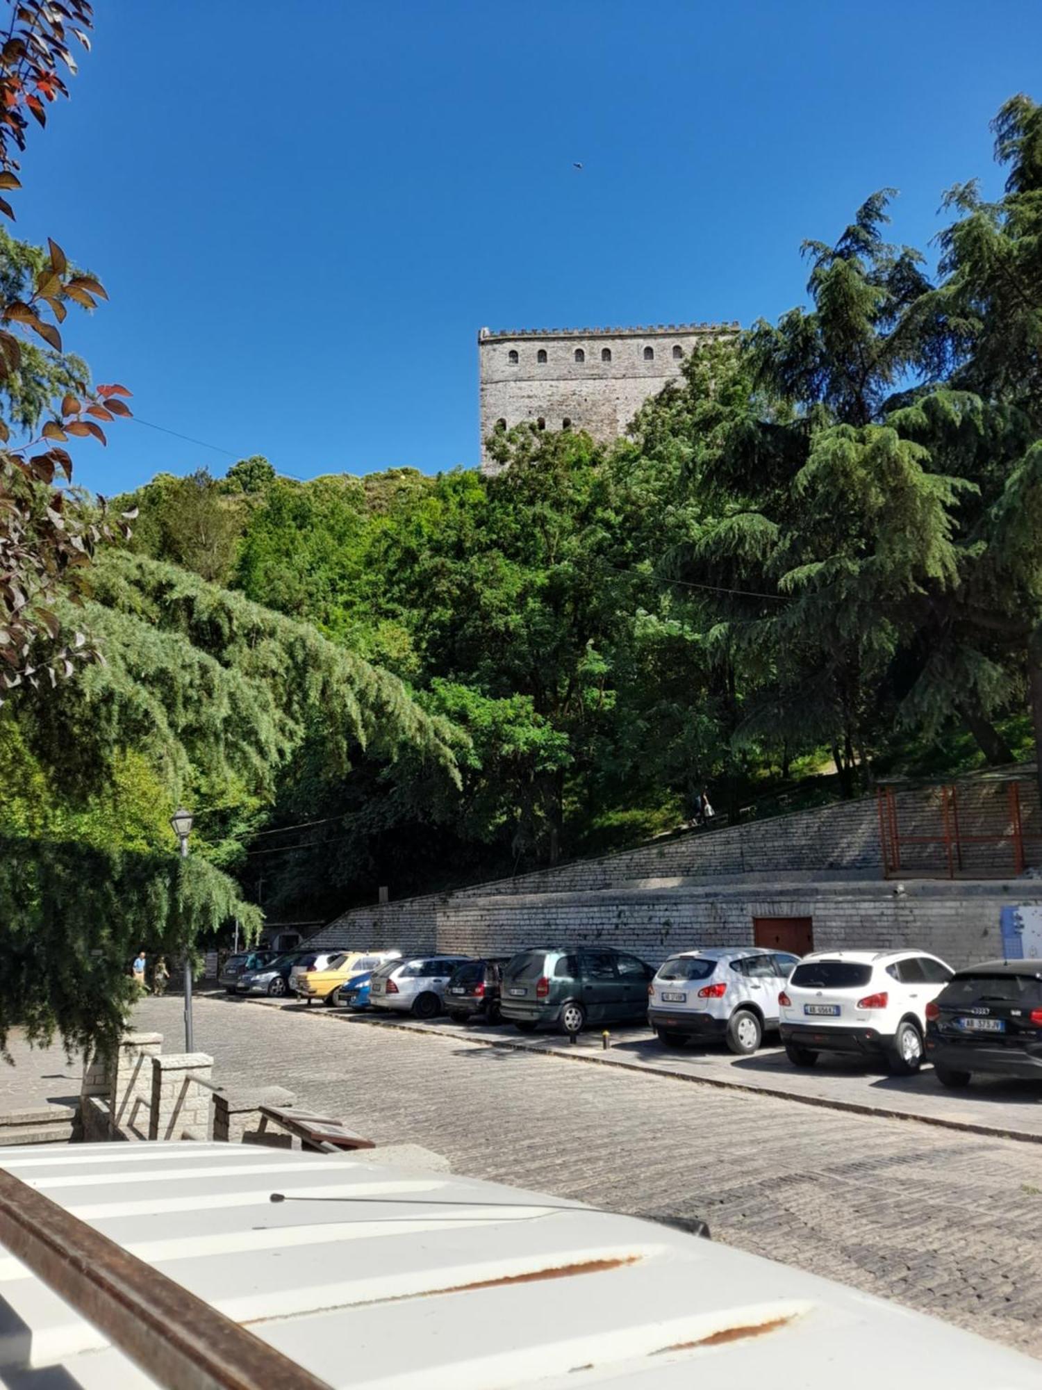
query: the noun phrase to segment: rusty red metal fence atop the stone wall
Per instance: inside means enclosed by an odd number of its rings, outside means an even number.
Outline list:
[[[1006,878],[1042,865],[1038,784],[982,776],[878,788],[884,877]]]

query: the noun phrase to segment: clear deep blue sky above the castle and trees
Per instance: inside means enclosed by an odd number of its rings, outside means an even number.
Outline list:
[[[297,477],[478,459],[477,331],[777,317],[799,243],[1000,177],[1042,6],[97,0],[15,231],[111,303],[67,346],[143,420]],[[572,161],[582,161],[582,172]],[[140,424],[103,492],[233,457]]]

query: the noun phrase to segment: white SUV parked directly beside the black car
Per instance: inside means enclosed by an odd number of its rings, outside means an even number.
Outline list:
[[[816,951],[789,977],[778,1002],[781,1038],[795,1066],[818,1052],[882,1056],[907,1076],[923,1065],[927,1005],[952,967],[925,951]]]

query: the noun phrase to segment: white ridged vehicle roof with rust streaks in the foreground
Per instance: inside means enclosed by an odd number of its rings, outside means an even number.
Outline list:
[[[1042,1387],[1039,1362],[896,1304],[493,1183],[239,1144],[7,1148],[0,1168],[331,1386],[878,1390],[882,1364]],[[154,1384],[1,1247],[0,1295],[0,1380]]]

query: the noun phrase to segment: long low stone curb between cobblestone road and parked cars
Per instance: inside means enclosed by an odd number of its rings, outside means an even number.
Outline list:
[[[247,1002],[261,1004],[264,1001],[247,997]],[[271,1005],[267,1005],[267,1008],[271,1008]],[[308,1017],[324,1017],[328,1020],[346,1017],[346,1015],[338,1013],[336,1009],[301,1009],[300,1012]],[[395,1031],[408,1033],[411,1037],[420,1036],[445,1038],[446,1041],[453,1042],[472,1042],[478,1047],[497,1047],[508,1052],[528,1052],[535,1054],[536,1056],[557,1058],[561,1062],[586,1062],[592,1066],[614,1066],[622,1072],[636,1072],[640,1076],[654,1076],[664,1081],[685,1081],[690,1086],[716,1086],[717,1090],[741,1091],[745,1095],[770,1095],[777,1101],[792,1101],[796,1105],[811,1105],[817,1109],[846,1111],[850,1115],[868,1115],[886,1120],[909,1120],[911,1125],[932,1125],[936,1129],[960,1130],[961,1133],[981,1134],[986,1138],[1009,1138],[1018,1144],[1042,1144],[1042,1134],[1028,1134],[1024,1130],[1004,1129],[1000,1125],[978,1125],[974,1120],[946,1119],[941,1115],[911,1115],[907,1111],[895,1111],[882,1105],[864,1105],[860,1101],[838,1101],[825,1095],[796,1095],[792,1091],[785,1091],[777,1086],[749,1086],[746,1081],[728,1081],[717,1076],[688,1076],[684,1072],[660,1072],[657,1068],[646,1066],[643,1062],[629,1062],[624,1058],[611,1056],[610,1052],[582,1054],[565,1051],[564,1048],[547,1049],[534,1047],[522,1038],[481,1038],[464,1033],[463,1030],[456,1031],[453,1029],[431,1027],[418,1029],[411,1023],[393,1023],[389,1019],[367,1019],[361,1015],[356,1015],[352,1022],[364,1023],[367,1027],[395,1029]]]

